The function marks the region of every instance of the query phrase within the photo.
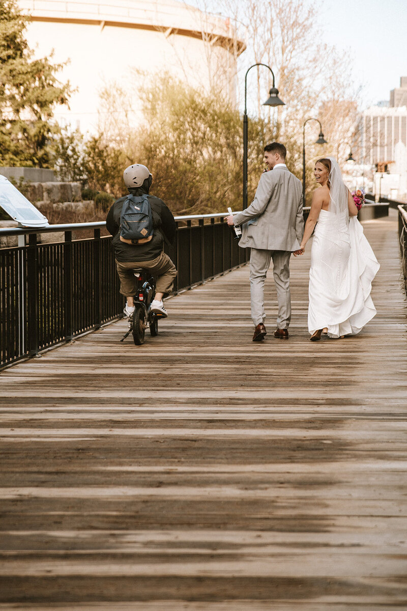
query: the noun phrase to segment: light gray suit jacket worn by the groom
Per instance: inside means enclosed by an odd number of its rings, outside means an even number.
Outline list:
[[[285,166],[265,172],[253,202],[233,222],[243,225],[242,248],[296,251],[304,233],[301,181]]]

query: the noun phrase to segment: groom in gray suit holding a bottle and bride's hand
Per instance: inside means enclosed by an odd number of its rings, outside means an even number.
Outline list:
[[[284,144],[264,147],[264,159],[272,172],[261,175],[253,202],[247,210],[226,218],[228,225],[243,225],[239,246],[250,247],[251,318],[253,342],[267,334],[264,326],[264,281],[273,259],[278,317],[274,337],[288,338],[291,320],[290,256],[300,248],[304,231],[301,181],[286,166]]]

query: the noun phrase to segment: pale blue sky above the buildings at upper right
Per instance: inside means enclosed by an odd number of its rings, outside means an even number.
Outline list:
[[[319,42],[348,53],[353,81],[363,86],[362,108],[389,100],[407,76],[407,0],[308,1],[318,7]],[[187,4],[202,7],[202,0]],[[214,12],[216,6],[211,0]]]

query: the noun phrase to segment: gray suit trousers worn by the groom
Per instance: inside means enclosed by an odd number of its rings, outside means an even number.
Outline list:
[[[264,323],[264,282],[270,260],[273,259],[273,276],[277,289],[277,326],[286,329],[291,320],[290,257],[288,251],[264,251],[252,248],[250,252],[251,319],[254,326]]]

